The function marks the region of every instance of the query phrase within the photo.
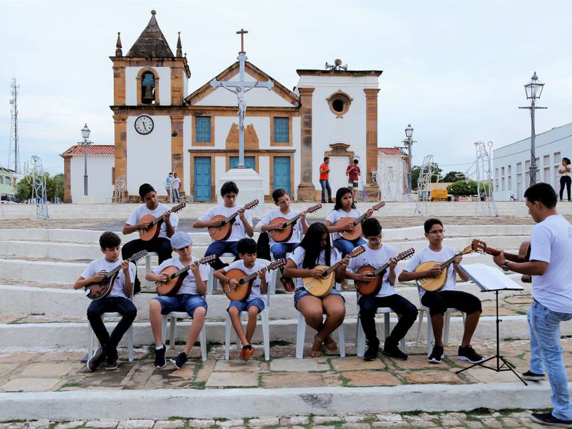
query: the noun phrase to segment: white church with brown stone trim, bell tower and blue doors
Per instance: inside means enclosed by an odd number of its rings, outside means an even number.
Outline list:
[[[210,82],[196,82],[201,86],[189,93],[192,69],[183,54],[181,34],[173,54],[156,12],[151,14],[125,55],[118,34],[116,53],[110,57],[114,156],[106,157],[106,164],[97,164],[102,172],[89,175],[108,177],[107,200],[113,192],[108,184],[117,178],[126,182],[129,201],[138,200],[137,191],[144,182],[166,196],[165,178],[174,172],[181,178],[181,195],[197,202],[216,201],[217,178],[239,160],[236,94],[212,88]],[[273,83],[271,90],[245,94],[245,168],[260,174],[267,201],[277,188],[287,189],[293,200],[319,199],[319,166],[325,156],[331,159],[334,193],[347,185],[345,168],[357,158],[366,192],[378,196],[371,171],[378,168],[381,70],[347,70],[341,61],[325,69],[298,69],[299,80],[292,90],[251,62],[246,62],[245,72],[247,81]],[[237,61],[213,78],[228,81],[238,73]],[[70,171],[73,163],[66,155],[74,152],[70,149],[62,154],[65,164],[67,160],[67,201],[75,200],[78,193],[73,190],[73,177],[79,174]],[[102,198],[93,202],[105,202]]]

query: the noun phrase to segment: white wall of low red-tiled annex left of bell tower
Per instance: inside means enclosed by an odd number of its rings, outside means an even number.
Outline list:
[[[113,156],[88,156],[88,194],[93,202],[107,202],[113,195]],[[72,202],[84,195],[84,157],[74,156],[70,160]]]

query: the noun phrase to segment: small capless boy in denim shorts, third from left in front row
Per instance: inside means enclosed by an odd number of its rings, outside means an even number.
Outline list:
[[[240,359],[248,360],[252,358],[254,349],[251,345],[252,336],[256,329],[256,316],[264,309],[264,300],[262,293],[267,293],[266,271],[263,264],[256,262],[256,241],[252,239],[242,239],[237,243],[237,251],[240,259],[234,261],[227,267],[215,271],[215,277],[221,282],[228,284],[228,287],[236,289],[239,287],[247,287],[239,285],[238,280],[229,279],[225,273],[231,269],[239,269],[245,275],[264,270],[259,277],[252,283],[250,294],[243,301],[231,301],[228,306],[228,314],[231,317],[232,326],[235,328],[236,334],[243,343],[243,349],[240,351]],[[240,321],[240,312],[248,311],[247,332],[244,333],[243,324]]]

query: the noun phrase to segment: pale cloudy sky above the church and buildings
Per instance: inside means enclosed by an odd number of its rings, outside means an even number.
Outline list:
[[[113,144],[117,31],[123,52],[157,10],[171,49],[181,31],[189,93],[235,62],[241,27],[249,61],[287,88],[296,69],[340,58],[349,69],[383,70],[378,146],[414,128],[414,164],[428,154],[466,170],[475,141],[493,148],[530,137],[523,85],[545,88],[537,133],[572,122],[571,1],[14,1],[0,13],[0,164],[7,165],[10,81],[19,84],[22,168],[41,157],[51,174],[81,140]],[[568,54],[566,54],[568,52]]]

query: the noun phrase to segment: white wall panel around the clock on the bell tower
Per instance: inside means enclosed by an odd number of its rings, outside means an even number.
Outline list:
[[[139,134],[134,128],[137,116],[127,118],[127,186],[137,195],[142,183],[153,185],[158,195],[166,195],[165,179],[171,170],[171,120],[169,116],[153,116],[154,128]],[[152,168],[146,166],[151,165]]]

